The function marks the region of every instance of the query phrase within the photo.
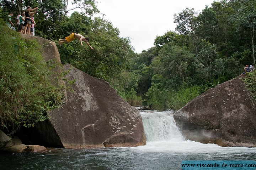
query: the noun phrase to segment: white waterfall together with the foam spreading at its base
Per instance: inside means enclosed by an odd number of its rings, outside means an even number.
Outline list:
[[[132,149],[141,152],[171,152],[171,153],[251,153],[255,148],[245,147],[220,147],[215,144],[185,140],[180,129],[176,126],[173,111],[141,111],[146,145]]]

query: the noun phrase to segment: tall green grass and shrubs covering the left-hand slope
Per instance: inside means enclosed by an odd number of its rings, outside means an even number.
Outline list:
[[[37,41],[22,39],[0,19],[0,128],[14,132],[47,119],[62,95],[50,85]]]

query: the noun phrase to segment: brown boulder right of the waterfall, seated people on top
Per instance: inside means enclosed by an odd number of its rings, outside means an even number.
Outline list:
[[[174,114],[186,139],[220,146],[256,147],[256,107],[241,79],[226,81]]]

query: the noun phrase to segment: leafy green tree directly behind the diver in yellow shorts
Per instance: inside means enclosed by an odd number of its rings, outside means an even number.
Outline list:
[[[119,30],[114,28],[111,22],[99,17],[91,21],[82,13],[73,13],[62,25],[63,27],[57,30],[59,35],[64,36],[65,27],[76,27],[74,30],[77,30],[77,33],[88,35],[90,44],[95,49],[83,47],[77,40],[63,44],[59,47],[63,62],[107,81],[129,65],[128,57],[134,54],[129,45],[130,40],[120,38]]]

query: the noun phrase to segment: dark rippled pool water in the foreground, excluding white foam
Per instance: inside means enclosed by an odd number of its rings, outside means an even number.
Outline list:
[[[182,160],[256,160],[255,149],[218,150],[205,153],[143,151],[131,148],[54,149],[45,153],[0,156],[2,170],[180,170]],[[160,148],[159,148],[160,149]]]

